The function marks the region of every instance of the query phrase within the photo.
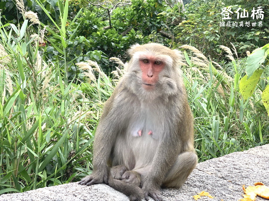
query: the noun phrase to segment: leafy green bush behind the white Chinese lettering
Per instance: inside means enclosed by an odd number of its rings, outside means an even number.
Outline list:
[[[250,11],[253,7],[263,8],[264,19],[262,27],[220,27],[221,9],[231,6],[234,12],[239,7]],[[214,60],[220,61],[224,52],[219,45],[230,46],[230,43],[238,49],[239,57],[244,57],[246,50],[255,49],[268,43],[269,33],[269,5],[267,0],[258,1],[200,1],[192,0],[186,6],[183,20],[175,29],[176,38],[181,44],[191,44],[197,47],[205,55],[210,55]],[[231,14],[232,19],[237,21],[237,15]],[[238,20],[240,21],[240,19]],[[248,18],[250,24],[252,18]],[[239,23],[238,23],[239,24]]]

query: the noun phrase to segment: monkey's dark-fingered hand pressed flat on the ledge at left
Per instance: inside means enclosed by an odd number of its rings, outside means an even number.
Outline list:
[[[95,183],[108,183],[108,172],[106,171],[98,171],[92,172],[91,175],[84,177],[78,184],[90,186]]]

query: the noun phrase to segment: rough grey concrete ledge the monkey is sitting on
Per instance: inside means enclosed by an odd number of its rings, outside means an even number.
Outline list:
[[[193,195],[207,191],[214,198],[201,197],[198,201],[235,201],[242,198],[242,185],[253,186],[262,182],[269,186],[269,144],[244,152],[235,152],[220,158],[199,163],[180,189],[163,189],[163,200],[194,200]],[[0,201],[82,201],[115,200],[128,201],[128,197],[105,184],[81,186],[68,183],[39,188],[24,193],[4,194]],[[150,199],[152,200],[152,199]],[[266,200],[257,197],[257,200]]]

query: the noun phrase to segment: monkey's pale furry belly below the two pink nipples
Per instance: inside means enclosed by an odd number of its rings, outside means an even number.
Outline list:
[[[150,131],[152,134],[149,134]],[[153,135],[154,132],[149,129],[135,129],[119,135],[114,146],[112,165],[126,165],[130,170],[151,165],[159,143]]]

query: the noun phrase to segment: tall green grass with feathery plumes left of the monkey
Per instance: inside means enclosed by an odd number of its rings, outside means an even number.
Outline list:
[[[66,60],[65,2],[61,6],[64,26],[57,26],[64,47],[59,60]],[[84,176],[91,169],[94,128],[114,83],[100,69],[95,78],[94,63],[83,69],[93,74],[92,82],[68,81],[66,63],[51,63],[39,47],[46,29],[52,30],[44,28],[33,13],[29,17],[19,9],[23,24],[0,24],[0,194]]]

